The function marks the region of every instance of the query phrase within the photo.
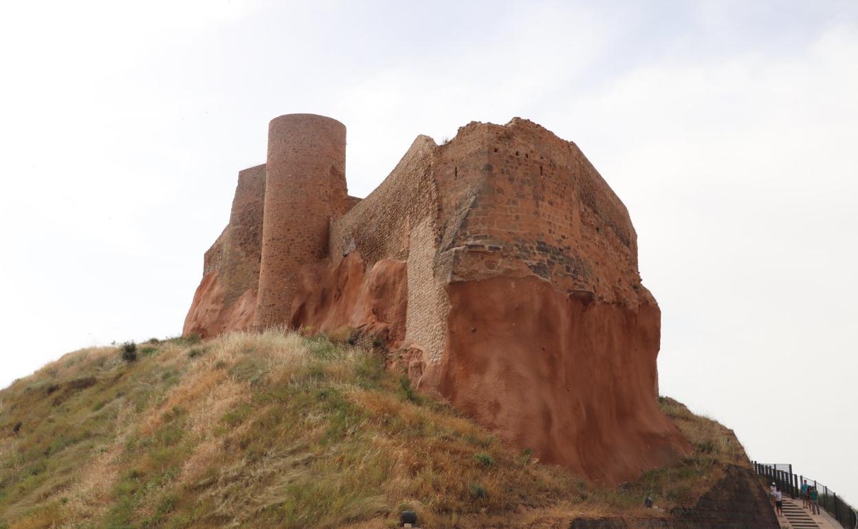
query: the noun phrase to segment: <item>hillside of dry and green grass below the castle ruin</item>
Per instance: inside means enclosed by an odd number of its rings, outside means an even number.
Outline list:
[[[550,527],[658,515],[647,495],[690,505],[722,463],[746,460],[732,432],[662,399],[695,453],[601,488],[327,338],[234,333],[135,354],[70,353],[0,392],[0,528],[388,527],[403,508],[427,527]]]

